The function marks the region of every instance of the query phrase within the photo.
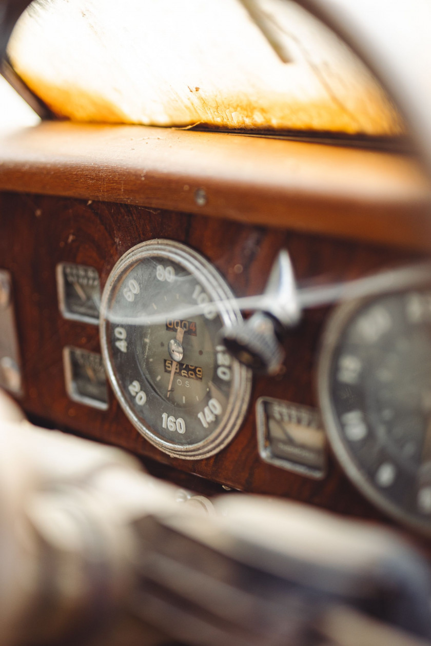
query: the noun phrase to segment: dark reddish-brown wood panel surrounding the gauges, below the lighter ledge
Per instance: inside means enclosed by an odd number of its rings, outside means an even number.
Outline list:
[[[2,268],[11,271],[14,280],[25,387],[21,404],[28,415],[219,485],[282,495],[342,514],[381,517],[331,455],[328,477],[314,481],[269,466],[257,452],[254,411],[258,397],[317,405],[315,364],[328,308],[307,311],[289,334],[284,374],[254,380],[246,421],[229,446],[209,459],[186,461],[172,459],[151,446],[127,420],[112,392],[106,412],[68,399],[62,349],[72,345],[100,351],[99,334],[96,326],[61,317],[55,273],[58,262],[86,264],[98,269],[103,285],[127,249],[150,238],[171,238],[209,258],[240,296],[264,287],[269,267],[282,247],[288,249],[299,281],[355,278],[408,262],[411,253],[193,214],[32,194],[1,194],[0,229],[6,228],[8,235],[0,237],[0,258]]]

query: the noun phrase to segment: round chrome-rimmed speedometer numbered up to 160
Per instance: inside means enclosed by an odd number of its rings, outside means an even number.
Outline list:
[[[132,424],[169,455],[212,455],[244,419],[250,373],[218,339],[240,319],[222,276],[185,245],[144,242],[112,269],[101,302],[109,380]]]

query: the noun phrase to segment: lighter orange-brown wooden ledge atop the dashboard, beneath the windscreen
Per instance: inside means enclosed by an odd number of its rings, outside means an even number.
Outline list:
[[[299,141],[51,122],[0,140],[0,189],[176,209],[431,249],[431,191],[408,156]],[[196,199],[202,189],[205,197]],[[198,194],[199,195],[199,194]]]

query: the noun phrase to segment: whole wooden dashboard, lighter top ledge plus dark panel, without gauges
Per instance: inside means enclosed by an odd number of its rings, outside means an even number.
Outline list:
[[[167,238],[207,258],[237,297],[261,293],[280,249],[299,282],[366,276],[429,253],[431,195],[412,159],[228,134],[45,123],[2,141],[0,189],[1,269],[12,275],[19,401],[31,419],[126,448],[191,488],[199,488],[192,476],[201,476],[213,491],[223,485],[383,517],[329,449],[322,480],[271,466],[258,453],[259,397],[317,406],[316,364],[332,307],[304,313],[284,343],[282,373],[253,378],[233,441],[212,457],[182,460],[147,442],[112,391],[107,410],[71,401],[63,348],[100,352],[99,331],[63,317],[56,267],[94,267],[103,288],[128,249]]]

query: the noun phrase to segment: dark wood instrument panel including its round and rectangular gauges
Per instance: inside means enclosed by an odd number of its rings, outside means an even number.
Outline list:
[[[244,304],[264,293],[281,250],[304,289],[411,266],[417,253],[133,205],[1,200],[2,218],[19,214],[0,252],[13,277],[20,402],[31,419],[127,448],[155,474],[170,468],[220,491],[394,517],[428,532],[426,286],[304,307],[280,337],[286,358],[273,376],[251,377],[222,342],[226,328],[250,317]],[[18,243],[28,249],[19,259]],[[395,369],[392,346],[413,336]],[[403,404],[399,384],[415,389],[418,380],[419,395]],[[390,408],[394,419],[415,420],[414,450],[381,419]]]

